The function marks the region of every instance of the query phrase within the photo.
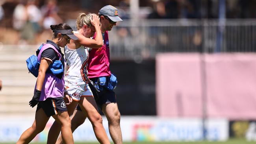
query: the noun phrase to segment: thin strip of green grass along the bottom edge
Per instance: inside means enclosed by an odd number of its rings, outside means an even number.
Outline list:
[[[1,143],[0,144],[15,144]],[[30,143],[30,144],[45,144],[45,143]],[[97,142],[75,142],[75,144],[98,144]],[[111,143],[113,144],[113,143]],[[247,142],[244,139],[230,139],[226,142],[124,142],[123,144],[256,144],[256,142]]]

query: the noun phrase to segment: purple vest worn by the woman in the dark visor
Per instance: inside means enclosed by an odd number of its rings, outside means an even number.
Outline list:
[[[38,61],[41,61],[41,54],[47,48],[54,49],[61,59],[61,54],[58,52],[58,50],[56,50],[56,48],[52,44],[43,44],[43,47],[41,48],[39,54],[37,55]],[[36,84],[35,84],[35,89],[36,89]],[[46,98],[63,97],[63,93],[64,93],[63,91],[64,91],[64,72],[61,79],[57,78],[54,74],[46,73],[45,81],[42,86],[41,96],[39,98],[39,101],[44,101],[46,100]]]

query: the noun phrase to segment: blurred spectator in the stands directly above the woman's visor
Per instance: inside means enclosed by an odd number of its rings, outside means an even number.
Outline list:
[[[50,25],[63,22],[58,15],[59,8],[56,0],[47,0],[41,8],[43,14],[43,27],[49,29]]]

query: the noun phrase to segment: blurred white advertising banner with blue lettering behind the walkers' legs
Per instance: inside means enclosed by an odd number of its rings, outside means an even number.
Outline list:
[[[33,117],[0,118],[0,142],[16,142],[20,135],[32,126]],[[54,122],[50,118],[45,130],[37,135],[34,142],[46,142],[48,131]],[[108,121],[103,124],[108,134]],[[207,139],[224,141],[228,139],[228,120],[206,121]],[[124,141],[198,141],[202,140],[202,120],[199,118],[158,118],[151,116],[123,116],[121,130]],[[89,120],[85,120],[73,133],[76,142],[97,141]]]

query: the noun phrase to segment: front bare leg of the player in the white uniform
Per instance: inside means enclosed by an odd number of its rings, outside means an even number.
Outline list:
[[[93,131],[101,144],[110,144],[107,133],[102,125],[102,117],[98,113],[97,105],[93,97],[82,97],[79,105],[93,125]]]

